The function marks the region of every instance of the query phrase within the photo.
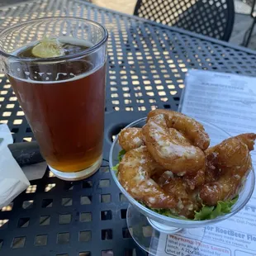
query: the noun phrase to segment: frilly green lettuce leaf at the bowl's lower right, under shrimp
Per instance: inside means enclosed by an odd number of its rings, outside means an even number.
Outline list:
[[[232,206],[238,200],[238,196],[230,201],[218,201],[217,206],[202,206],[200,211],[195,211],[194,220],[212,220],[218,216],[230,213]]]

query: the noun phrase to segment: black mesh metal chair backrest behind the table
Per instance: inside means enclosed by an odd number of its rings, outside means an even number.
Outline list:
[[[138,0],[134,14],[216,39],[230,39],[233,0]]]

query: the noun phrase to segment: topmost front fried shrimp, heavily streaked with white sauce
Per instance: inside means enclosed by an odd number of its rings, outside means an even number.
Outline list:
[[[196,175],[205,166],[205,154],[178,130],[169,128],[163,114],[148,119],[142,131],[149,153],[163,168],[179,176]]]

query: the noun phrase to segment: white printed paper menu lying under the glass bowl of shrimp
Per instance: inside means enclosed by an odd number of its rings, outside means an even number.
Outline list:
[[[230,73],[190,70],[179,111],[238,135],[256,133],[256,78]],[[256,150],[252,152],[256,168]],[[256,191],[242,211],[228,220],[206,227],[201,245],[191,232],[178,239],[161,234],[159,256],[256,256]],[[187,253],[190,251],[189,253]]]

